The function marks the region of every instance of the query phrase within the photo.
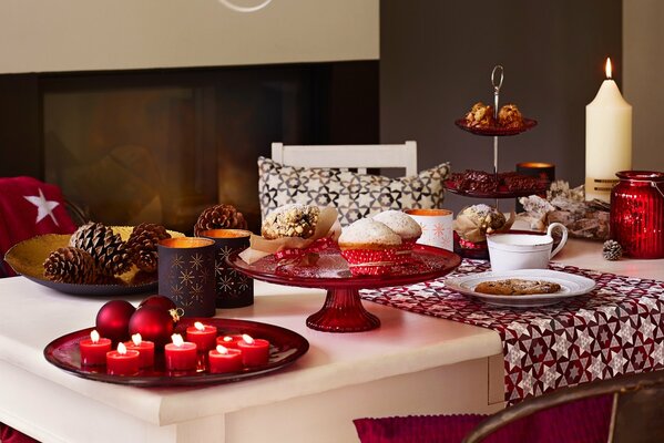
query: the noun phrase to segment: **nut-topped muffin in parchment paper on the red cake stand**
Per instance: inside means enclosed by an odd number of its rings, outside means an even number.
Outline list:
[[[297,203],[280,206],[265,217],[261,235],[268,240],[282,237],[309,238],[316,233],[319,216],[317,206]]]

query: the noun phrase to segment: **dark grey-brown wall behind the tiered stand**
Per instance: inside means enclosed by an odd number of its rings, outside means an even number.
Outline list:
[[[515,103],[539,125],[500,140],[499,168],[551,162],[559,178],[580,185],[585,105],[604,79],[609,55],[621,85],[621,35],[620,0],[384,0],[381,143],[416,140],[420,168],[450,161],[454,171],[491,171],[492,140],[453,122],[473,103],[492,101],[491,70],[502,64],[501,103]],[[458,210],[474,203],[448,194],[446,206]]]

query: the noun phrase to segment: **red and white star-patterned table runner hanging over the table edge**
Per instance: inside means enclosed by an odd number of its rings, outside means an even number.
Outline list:
[[[365,289],[362,299],[481,326],[503,343],[505,400],[514,404],[556,388],[664,368],[664,282],[552,265],[596,281],[585,296],[545,308],[484,305],[445,287],[445,279],[489,270],[463,260],[448,277]]]

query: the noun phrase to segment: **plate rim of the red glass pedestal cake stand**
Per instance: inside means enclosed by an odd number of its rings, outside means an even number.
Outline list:
[[[421,281],[431,280],[435,278],[442,277],[461,264],[461,257],[459,255],[442,248],[436,248],[428,245],[415,245],[412,254],[417,257],[420,255],[429,255],[439,257],[441,260],[447,261],[445,266],[439,269],[433,269],[428,272],[420,274],[388,274],[381,276],[337,276],[337,277],[300,277],[300,276],[288,276],[274,272],[264,272],[257,270],[252,265],[247,265],[238,257],[239,251],[231,254],[227,258],[227,262],[235,269],[246,274],[247,276],[279,285],[297,286],[303,288],[347,288],[347,289],[370,289],[370,288],[382,288],[388,286],[403,286],[412,285]],[[330,248],[323,254],[339,254],[336,248]]]

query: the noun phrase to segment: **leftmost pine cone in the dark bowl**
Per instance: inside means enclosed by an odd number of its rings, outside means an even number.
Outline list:
[[[96,282],[96,265],[83,249],[68,246],[49,254],[44,277],[63,284],[90,285]]]

